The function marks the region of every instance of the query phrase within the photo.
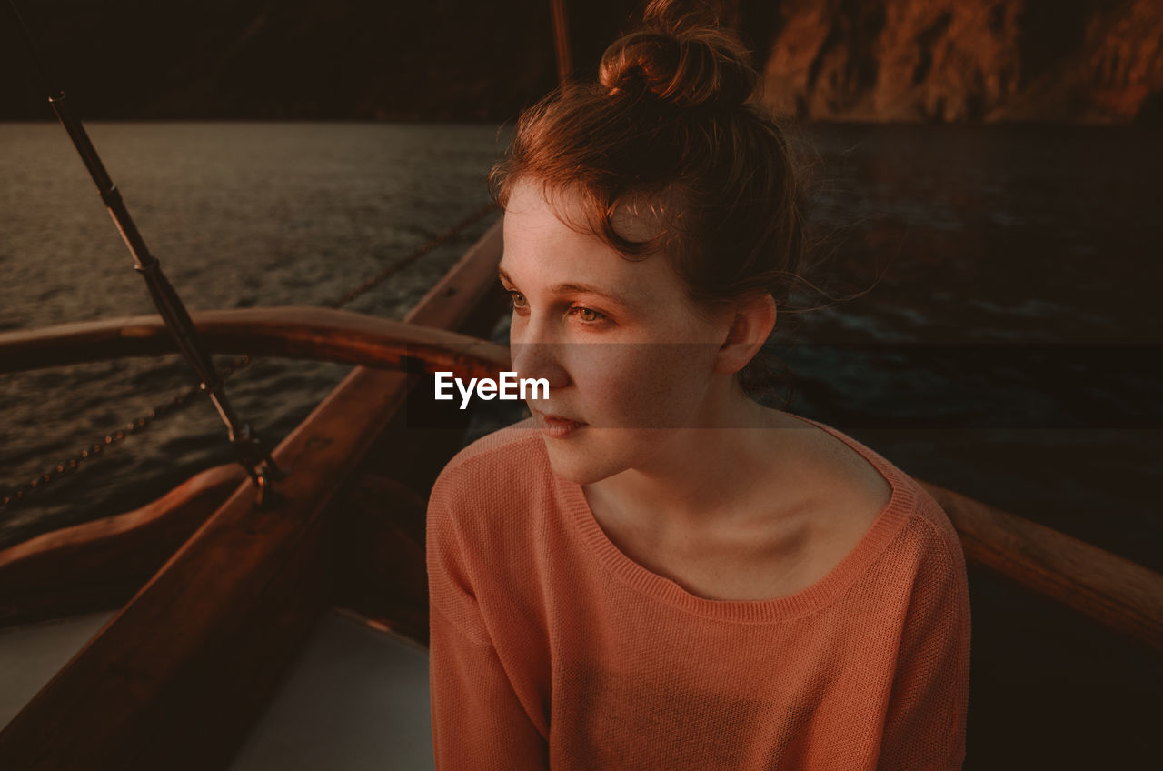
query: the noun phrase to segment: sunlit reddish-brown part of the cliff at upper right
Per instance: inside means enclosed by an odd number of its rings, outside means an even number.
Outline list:
[[[1154,122],[1161,93],[1158,0],[784,0],[763,84],[848,121]]]

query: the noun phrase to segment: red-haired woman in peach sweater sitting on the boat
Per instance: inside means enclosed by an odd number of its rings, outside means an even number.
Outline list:
[[[804,249],[740,45],[652,3],[494,170],[533,418],[428,512],[440,769],[947,769],[957,536],[847,436],[745,395]]]

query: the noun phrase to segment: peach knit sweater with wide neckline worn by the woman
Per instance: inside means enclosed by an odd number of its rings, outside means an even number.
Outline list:
[[[911,478],[823,579],[715,601],[630,560],[529,424],[462,451],[428,508],[441,771],[959,769],[965,566]]]

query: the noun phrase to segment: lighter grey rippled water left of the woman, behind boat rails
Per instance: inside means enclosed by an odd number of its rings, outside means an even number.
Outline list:
[[[495,128],[479,126],[94,123],[90,134],[193,310],[342,297],[488,203],[497,153]],[[0,125],[0,331],[155,312],[59,126]],[[348,309],[402,316],[488,221]],[[228,395],[278,440],[347,370],[265,360]],[[178,356],[0,377],[0,486],[36,478],[194,382]],[[200,399],[0,515],[0,547],[141,505],[229,460]]]

